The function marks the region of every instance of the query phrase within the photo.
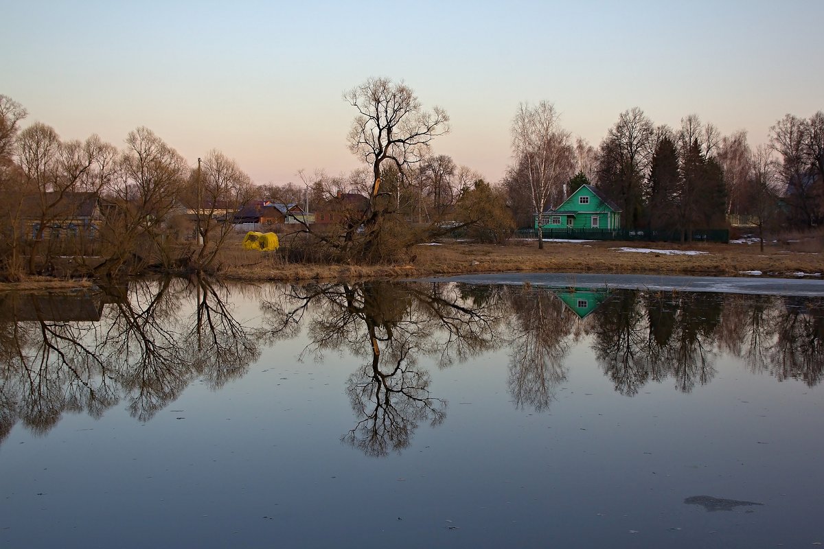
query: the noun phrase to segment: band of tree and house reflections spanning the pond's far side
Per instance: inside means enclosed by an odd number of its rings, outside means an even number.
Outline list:
[[[824,300],[679,291],[539,289],[389,282],[266,286],[238,321],[238,288],[215,281],[136,281],[72,299],[0,298],[0,440],[17,421],[45,433],[63,412],[101,416],[119,402],[147,421],[194,379],[211,388],[245,375],[261,346],[304,338],[302,359],[342,351],[354,415],[341,439],[383,456],[447,414],[428,365],[505,356],[514,406],[544,412],[592,348],[616,392],[651,382],[682,393],[709,384],[722,356],[779,381],[820,383]],[[241,296],[242,297],[242,296]],[[503,350],[496,354],[495,351]],[[503,366],[503,365],[502,365]]]

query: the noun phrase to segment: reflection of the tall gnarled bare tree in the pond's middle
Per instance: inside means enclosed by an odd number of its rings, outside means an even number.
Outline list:
[[[364,359],[347,380],[358,422],[342,440],[371,456],[406,448],[420,421],[443,421],[447,402],[430,393],[432,379],[418,357],[445,367],[476,356],[494,344],[501,322],[494,299],[475,305],[451,285],[293,286],[288,297],[265,304],[269,318],[280,319],[271,323],[274,332],[292,333],[312,304],[304,353],[345,348]]]

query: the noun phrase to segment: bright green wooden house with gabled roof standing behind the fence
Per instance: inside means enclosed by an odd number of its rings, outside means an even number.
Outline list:
[[[583,184],[556,208],[536,216],[541,229],[618,229],[620,208],[592,185]]]

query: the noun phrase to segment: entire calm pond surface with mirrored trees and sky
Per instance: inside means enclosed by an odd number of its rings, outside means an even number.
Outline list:
[[[821,296],[138,282],[0,364],[2,547],[824,542]]]

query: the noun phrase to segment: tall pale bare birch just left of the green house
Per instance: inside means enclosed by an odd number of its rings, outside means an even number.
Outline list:
[[[521,168],[514,173],[525,179],[536,216],[551,202],[559,202],[575,168],[570,134],[561,128],[559,118],[555,105],[541,101],[535,107],[521,103],[513,119],[513,156]],[[538,248],[543,247],[539,234]]]

